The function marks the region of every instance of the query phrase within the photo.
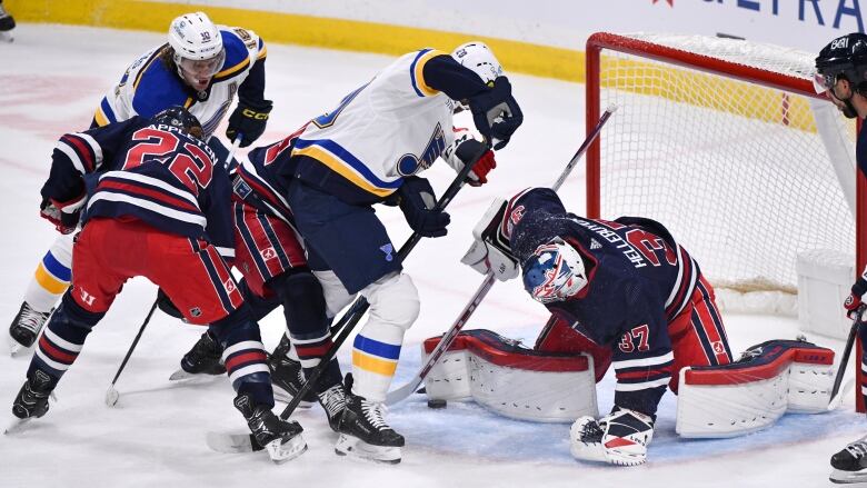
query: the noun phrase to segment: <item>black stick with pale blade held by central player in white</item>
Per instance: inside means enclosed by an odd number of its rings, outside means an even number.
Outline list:
[[[471,162],[464,165],[464,168],[461,168],[461,170],[458,172],[458,176],[455,177],[455,180],[446,189],[446,192],[442,193],[442,197],[440,197],[439,201],[437,201],[435,209],[444,210],[449,205],[455,196],[458,195],[458,191],[464,188],[464,185],[467,182],[467,178],[469,172],[472,170],[472,167],[482,156],[485,156],[489,149],[489,146],[482,146],[479,152],[472,156],[472,159],[470,160]],[[421,235],[418,232],[412,232],[403,246],[400,247],[400,250],[398,250],[398,259],[400,261],[405,260],[420,240]],[[292,397],[292,401],[290,401],[283,411],[280,412],[281,419],[288,419],[295,409],[298,408],[301,399],[319,381],[319,377],[322,376],[322,372],[325,371],[328,363],[337,355],[338,349],[340,349],[340,346],[343,345],[349,335],[352,333],[352,329],[355,329],[355,326],[359,320],[361,320],[361,316],[365,315],[369,307],[370,303],[368,303],[367,299],[365,297],[359,297],[352,303],[349,310],[343,313],[343,317],[338,321],[338,323],[331,328],[331,330],[339,329],[339,332],[331,343],[331,348],[328,349],[328,352],[326,352],[325,356],[320,359],[319,365],[317,365],[317,367],[310,374],[310,377],[307,378],[307,381],[303,384],[301,389],[298,390],[295,397]],[[249,452],[263,449],[263,447],[256,441],[256,438],[251,434],[208,432],[207,442],[208,447],[218,452]]]

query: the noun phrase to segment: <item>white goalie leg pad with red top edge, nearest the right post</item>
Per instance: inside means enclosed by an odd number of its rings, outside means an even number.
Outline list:
[[[826,412],[834,351],[773,340],[720,367],[684,368],[676,430],[689,438],[736,437],[771,426],[786,412]]]

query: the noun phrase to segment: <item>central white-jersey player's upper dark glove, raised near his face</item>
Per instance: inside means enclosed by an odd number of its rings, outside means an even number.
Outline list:
[[[505,148],[524,122],[524,113],[511,96],[511,84],[506,77],[494,80],[490,90],[470,97],[468,103],[476,129],[491,141],[494,149]]]

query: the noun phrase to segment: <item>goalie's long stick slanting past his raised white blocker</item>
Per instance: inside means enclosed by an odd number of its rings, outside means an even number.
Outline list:
[[[602,127],[616,110],[617,106],[614,104],[606,109],[605,113],[602,113],[602,116],[599,118],[599,121],[596,123],[592,132],[587,136],[587,139],[585,139],[584,143],[581,143],[581,147],[578,148],[578,151],[575,153],[575,156],[572,156],[572,159],[569,160],[569,163],[566,165],[566,168],[564,168],[560,176],[557,178],[554,185],[551,185],[551,189],[554,191],[560,189],[564,181],[566,181],[566,178],[578,163],[578,160],[581,159],[581,156],[584,156],[585,152],[587,152],[587,148],[589,148],[590,145],[596,140],[596,138],[602,131]],[[388,395],[386,395],[386,405],[397,404],[416,391],[419,385],[421,385],[425,378],[427,378],[428,374],[430,374],[430,370],[437,363],[439,358],[442,357],[449,347],[451,347],[451,343],[455,342],[455,339],[458,337],[460,329],[467,325],[470,316],[472,316],[472,312],[476,311],[476,308],[479,306],[485,296],[488,295],[488,291],[491,289],[495,281],[496,278],[494,277],[492,272],[488,272],[485,276],[485,281],[482,281],[479,288],[476,290],[476,293],[472,296],[469,303],[464,307],[464,310],[460,312],[460,316],[458,316],[458,319],[455,320],[455,323],[451,325],[451,328],[446,331],[446,333],[442,336],[442,339],[439,340],[439,343],[434,349],[434,351],[430,352],[427,362],[421,366],[421,369],[419,369],[419,371],[415,377],[412,377],[411,380],[409,380],[409,382],[393,391],[389,391]]]

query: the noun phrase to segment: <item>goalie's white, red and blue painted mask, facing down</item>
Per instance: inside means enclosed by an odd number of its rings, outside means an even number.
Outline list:
[[[524,289],[542,303],[566,300],[587,286],[581,255],[560,238],[536,248],[521,268]]]

